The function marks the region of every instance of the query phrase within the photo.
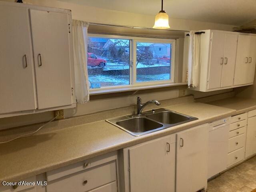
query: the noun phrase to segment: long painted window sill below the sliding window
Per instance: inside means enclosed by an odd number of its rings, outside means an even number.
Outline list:
[[[133,87],[124,87],[124,88],[112,88],[112,89],[101,89],[101,90],[90,90],[90,95],[98,95],[98,94],[108,94],[108,93],[116,93],[116,92],[126,92],[126,91],[135,91],[135,90],[145,90],[152,88],[161,88],[161,87],[172,87],[172,86],[180,86],[186,85],[187,82],[183,83],[166,83],[166,84],[158,84],[158,85],[140,85]]]

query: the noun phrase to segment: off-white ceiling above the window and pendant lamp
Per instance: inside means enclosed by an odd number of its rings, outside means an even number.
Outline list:
[[[109,10],[156,15],[161,0],[61,0]],[[164,0],[171,18],[242,25],[256,19],[256,0]]]

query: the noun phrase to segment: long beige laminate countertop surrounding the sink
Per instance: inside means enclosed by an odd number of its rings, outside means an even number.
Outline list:
[[[14,182],[26,179],[237,113],[236,109],[197,102],[164,108],[194,116],[198,120],[139,137],[132,136],[102,120],[0,144],[0,181]]]

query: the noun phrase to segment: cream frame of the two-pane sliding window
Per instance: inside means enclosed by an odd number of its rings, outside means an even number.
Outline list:
[[[106,90],[122,89],[122,88],[136,88],[141,86],[153,86],[154,88],[165,86],[166,84],[174,84],[174,73],[175,73],[175,50],[176,50],[176,39],[170,38],[148,38],[138,36],[122,36],[122,35],[111,35],[111,34],[98,34],[88,33],[88,37],[94,38],[110,38],[110,39],[127,39],[130,40],[130,84],[118,85],[118,86],[107,86],[102,88],[89,89],[89,92],[99,92],[100,90],[106,92]],[[158,80],[148,82],[136,82],[136,42],[152,42],[152,43],[164,43],[172,44],[171,60],[170,60],[170,80]],[[87,45],[86,45],[87,46]],[[87,47],[86,47],[87,49]],[[159,85],[159,86],[157,86]]]

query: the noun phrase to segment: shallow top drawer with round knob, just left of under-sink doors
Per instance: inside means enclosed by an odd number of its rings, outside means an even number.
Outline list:
[[[89,168],[104,164],[117,159],[116,151],[98,156],[89,160],[78,162],[69,166],[65,166],[59,169],[55,169],[49,172],[46,172],[46,180],[52,181],[57,178],[64,177],[69,174],[73,174],[82,170],[87,170]]]

